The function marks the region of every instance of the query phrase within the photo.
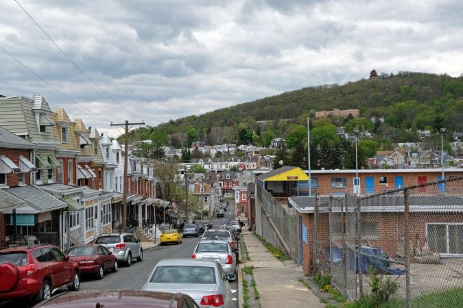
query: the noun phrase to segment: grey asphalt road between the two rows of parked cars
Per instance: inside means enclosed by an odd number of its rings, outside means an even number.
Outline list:
[[[227,220],[235,219],[235,204],[230,201],[224,218],[213,219],[213,227],[217,228]],[[143,261],[134,260],[132,266],[121,266],[118,272],[106,272],[102,280],[93,277],[81,277],[80,290],[141,290],[148,275],[154,266],[161,259],[168,258],[191,258],[193,248],[200,240],[198,238],[183,238],[182,244],[168,244],[156,246],[143,252]],[[231,287],[237,290],[235,297],[238,298],[238,281],[230,283]],[[9,300],[0,303],[1,308],[6,307],[32,307],[35,303],[32,300]]]

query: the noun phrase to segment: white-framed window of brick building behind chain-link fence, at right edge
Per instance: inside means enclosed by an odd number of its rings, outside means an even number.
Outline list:
[[[434,253],[463,255],[463,223],[436,222],[426,224],[429,248]]]

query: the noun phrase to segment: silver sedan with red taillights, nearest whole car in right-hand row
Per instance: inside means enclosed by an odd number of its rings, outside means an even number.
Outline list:
[[[226,274],[215,260],[163,259],[158,261],[142,290],[182,292],[203,308],[237,307],[236,290],[228,281],[235,274]]]

